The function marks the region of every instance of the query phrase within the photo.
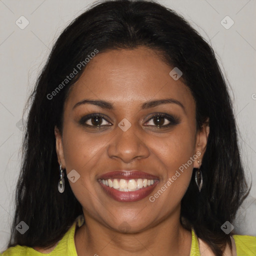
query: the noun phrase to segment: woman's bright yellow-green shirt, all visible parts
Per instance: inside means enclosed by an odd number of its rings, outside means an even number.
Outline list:
[[[37,250],[16,245],[9,247],[2,252],[2,256],[77,256],[74,245],[74,232],[76,225],[79,227],[83,223],[83,216],[76,218],[72,226],[67,230],[62,239],[58,242],[56,247],[50,253],[41,253]],[[189,256],[199,256],[198,239],[193,230],[191,230],[192,242]],[[256,255],[256,236],[248,235],[233,235],[235,241],[237,256],[255,256]]]

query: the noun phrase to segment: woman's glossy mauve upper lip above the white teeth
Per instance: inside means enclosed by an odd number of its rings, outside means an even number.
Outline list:
[[[159,177],[149,174],[140,170],[113,170],[106,172],[98,177],[99,179],[108,178],[123,178],[123,179],[136,179],[136,178],[146,178],[146,179],[159,179]]]

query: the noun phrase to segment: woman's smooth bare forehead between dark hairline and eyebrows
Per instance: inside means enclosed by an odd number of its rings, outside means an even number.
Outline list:
[[[181,79],[174,80],[159,53],[146,47],[97,53],[73,85],[66,105],[103,99],[113,105],[134,106],[150,99],[171,97],[191,108],[193,97]]]

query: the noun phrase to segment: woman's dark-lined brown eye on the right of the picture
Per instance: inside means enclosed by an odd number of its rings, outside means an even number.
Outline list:
[[[177,117],[158,113],[153,115],[147,122],[146,126],[155,126],[156,128],[164,128],[169,127],[170,125],[175,125],[179,123],[179,119]]]

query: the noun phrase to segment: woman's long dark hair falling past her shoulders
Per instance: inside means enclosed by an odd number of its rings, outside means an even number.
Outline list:
[[[66,177],[65,191],[60,194],[57,189],[54,126],[61,132],[64,101],[91,52],[137,46],[161,52],[170,67],[182,71],[182,79],[196,102],[198,129],[209,117],[210,132],[201,165],[203,186],[199,192],[191,178],[181,201],[180,221],[188,230],[193,228],[216,255],[222,255],[229,236],[220,226],[226,220],[233,221],[248,191],[227,85],[210,45],[175,11],[146,0],[95,3],[56,40],[30,95],[8,246],[50,247],[82,214]],[[66,81],[74,68],[77,73]],[[21,220],[29,226],[24,234],[15,229]]]

